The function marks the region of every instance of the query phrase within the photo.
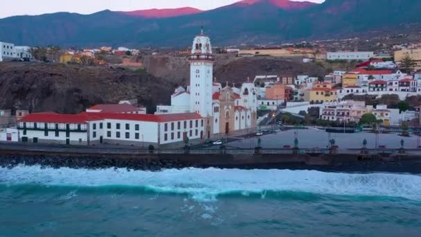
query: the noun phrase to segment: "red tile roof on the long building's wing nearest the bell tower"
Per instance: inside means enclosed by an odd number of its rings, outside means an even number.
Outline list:
[[[182,114],[114,114],[114,113],[88,113],[82,112],[82,116],[100,116],[102,119],[116,119],[129,121],[145,121],[165,123],[171,121],[183,121],[193,119],[203,119],[197,113],[182,113]]]

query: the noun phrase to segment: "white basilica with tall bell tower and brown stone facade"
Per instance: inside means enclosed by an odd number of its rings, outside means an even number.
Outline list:
[[[193,40],[188,61],[190,86],[175,89],[171,105],[159,105],[156,114],[199,114],[205,124],[201,139],[253,132],[258,107],[254,83],[247,80],[237,88],[230,87],[229,82],[224,83],[224,87],[216,82],[211,40],[203,28]]]

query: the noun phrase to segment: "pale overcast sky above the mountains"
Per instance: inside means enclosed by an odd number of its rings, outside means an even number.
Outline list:
[[[15,15],[40,15],[51,12],[78,12],[90,14],[105,9],[141,10],[190,6],[201,10],[208,10],[237,1],[240,0],[10,0],[0,5],[0,18]],[[320,3],[324,0],[308,1]]]

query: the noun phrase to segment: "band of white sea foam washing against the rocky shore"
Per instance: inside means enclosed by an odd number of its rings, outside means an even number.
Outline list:
[[[421,200],[421,177],[388,173],[348,174],[310,170],[238,170],[186,168],[161,172],[125,169],[86,170],[17,166],[0,168],[0,184],[44,186],[137,186],[157,192],[187,193],[215,200],[224,193],[297,191],[333,195],[375,195]]]

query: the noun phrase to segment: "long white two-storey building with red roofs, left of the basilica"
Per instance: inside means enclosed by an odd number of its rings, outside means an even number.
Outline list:
[[[30,143],[161,146],[204,138],[204,119],[188,114],[29,114],[18,123],[19,140]]]

